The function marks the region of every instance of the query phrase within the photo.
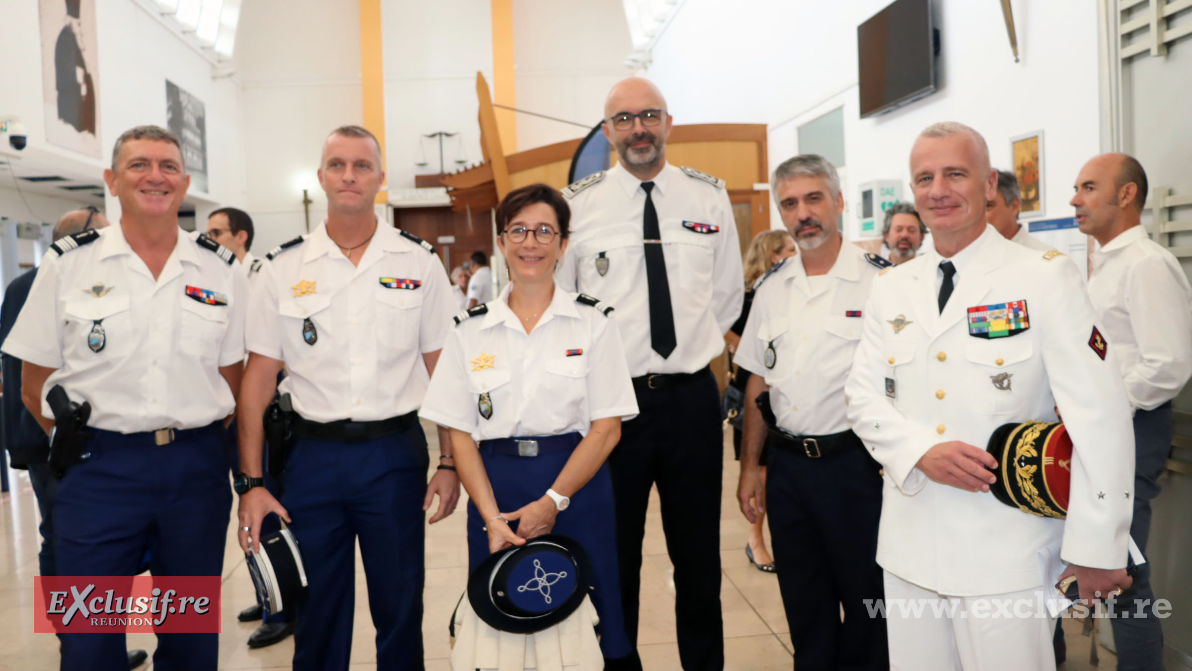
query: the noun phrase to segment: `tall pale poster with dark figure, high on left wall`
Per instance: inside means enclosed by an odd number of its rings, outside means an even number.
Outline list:
[[[99,158],[95,0],[39,0],[38,5],[45,140]]]

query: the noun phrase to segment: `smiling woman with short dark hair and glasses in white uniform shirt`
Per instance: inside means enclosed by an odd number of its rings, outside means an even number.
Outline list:
[[[638,405],[611,308],[554,285],[570,216],[545,184],[513,191],[497,207],[497,247],[511,282],[455,318],[421,415],[452,430],[471,498],[471,570],[526,538],[575,538],[592,560],[606,667],[634,667],[604,461]]]

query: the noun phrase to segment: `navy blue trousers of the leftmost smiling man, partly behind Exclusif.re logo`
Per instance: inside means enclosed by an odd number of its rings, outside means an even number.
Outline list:
[[[92,457],[54,500],[58,575],[132,575],[153,548],[154,575],[219,575],[231,485],[216,425],[156,445],[153,433],[95,431]],[[157,634],[155,669],[211,670],[219,634]],[[62,669],[124,671],[125,636],[64,634]]]

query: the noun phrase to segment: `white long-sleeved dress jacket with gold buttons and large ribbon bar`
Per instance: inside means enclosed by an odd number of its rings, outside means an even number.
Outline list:
[[[1079,272],[1062,254],[1028,250],[992,226],[970,248],[943,314],[935,248],[877,277],[864,308],[845,393],[852,430],[884,467],[877,562],[957,597],[1037,587],[1038,550],[1061,542],[1067,562],[1122,568],[1134,430],[1117,344],[1094,326]],[[1014,301],[1025,301],[1025,330],[970,336],[967,310]],[[1054,421],[1056,405],[1075,445],[1067,521],[940,485],[917,468],[938,443],[985,449],[1002,424]]]

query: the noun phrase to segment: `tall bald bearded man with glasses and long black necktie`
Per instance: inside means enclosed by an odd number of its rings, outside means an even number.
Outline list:
[[[609,92],[604,135],[620,161],[563,190],[572,232],[558,281],[616,308],[641,410],[609,456],[629,640],[637,645],[641,540],[657,485],[679,659],[687,670],[721,669],[724,441],[708,364],[740,314],[741,259],[724,180],[666,162],[671,124],[650,81],[626,79]]]

